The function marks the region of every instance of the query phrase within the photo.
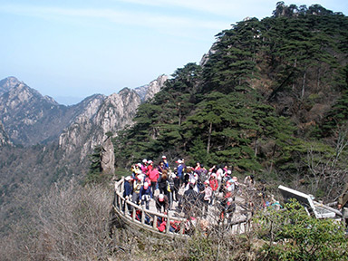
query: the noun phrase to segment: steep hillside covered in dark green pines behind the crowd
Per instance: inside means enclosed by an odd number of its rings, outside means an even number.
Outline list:
[[[118,167],[164,153],[334,198],[348,169],[347,48],[347,17],[321,5],[279,2],[233,24],[118,133]]]

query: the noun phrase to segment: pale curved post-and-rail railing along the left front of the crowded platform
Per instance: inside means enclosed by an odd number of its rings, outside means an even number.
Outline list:
[[[185,223],[187,222],[186,218],[177,218],[172,217],[171,215],[153,212],[149,209],[144,208],[145,206],[139,206],[137,204],[134,204],[130,200],[123,198],[123,183],[124,177],[115,182],[115,198],[113,202],[113,208],[121,216],[121,218],[125,218],[126,220],[131,221],[133,224],[148,229],[152,232],[166,234],[169,236],[186,236],[184,235]],[[131,206],[131,215],[129,214],[129,206]],[[140,220],[137,220],[137,210],[140,211]],[[146,218],[152,218],[152,225],[150,224],[149,219]],[[160,232],[157,227],[158,218],[166,218],[167,220],[166,229],[163,232]],[[179,232],[170,231],[171,221],[179,221]]]

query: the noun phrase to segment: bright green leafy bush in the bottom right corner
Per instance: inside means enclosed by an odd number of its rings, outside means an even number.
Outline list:
[[[269,208],[255,218],[257,237],[269,241],[263,260],[347,260],[342,224],[308,216],[297,201],[284,211]]]

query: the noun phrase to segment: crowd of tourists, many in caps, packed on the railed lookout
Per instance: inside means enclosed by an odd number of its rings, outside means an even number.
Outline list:
[[[166,156],[158,164],[144,159],[131,166],[131,176],[125,178],[123,197],[147,209],[150,208],[150,200],[154,200],[160,213],[167,213],[173,209],[174,202],[178,202],[176,210],[183,211],[186,217],[199,215],[207,218],[208,208],[214,204],[219,210],[219,221],[225,217],[230,220],[236,210],[235,200],[241,193],[241,187],[256,191],[253,175],[247,176],[240,184],[232,175],[232,170],[227,164],[206,169],[199,162],[195,167],[188,167],[184,159],[177,160],[171,169]],[[184,191],[183,195],[179,195],[179,189]],[[264,201],[263,205],[269,205],[265,189],[257,192]],[[247,204],[253,208],[254,202],[251,200]]]

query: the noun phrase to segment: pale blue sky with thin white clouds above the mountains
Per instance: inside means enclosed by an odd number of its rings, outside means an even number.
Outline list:
[[[0,80],[15,76],[61,103],[135,88],[199,63],[216,34],[271,16],[276,2],[0,0]],[[346,0],[284,2],[348,13]]]

